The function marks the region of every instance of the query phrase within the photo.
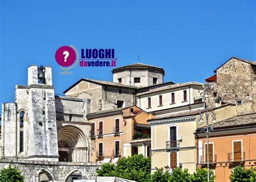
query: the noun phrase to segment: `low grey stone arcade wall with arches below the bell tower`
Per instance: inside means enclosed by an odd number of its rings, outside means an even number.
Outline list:
[[[17,166],[25,177],[25,181],[39,182],[39,173],[45,173],[50,180],[67,181],[73,173],[79,172],[84,179],[95,179],[97,163],[44,162],[34,160],[0,159],[0,169]],[[41,179],[42,180],[42,179]]]

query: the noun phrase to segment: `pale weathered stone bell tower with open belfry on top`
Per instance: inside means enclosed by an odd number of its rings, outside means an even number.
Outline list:
[[[58,161],[51,67],[29,66],[28,85],[16,85],[15,103],[2,104],[2,144],[5,158]]]

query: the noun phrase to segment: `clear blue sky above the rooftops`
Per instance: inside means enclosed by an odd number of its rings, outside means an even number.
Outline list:
[[[165,69],[165,81],[199,81],[230,57],[256,60],[255,1],[0,1],[0,103],[27,84],[27,67],[50,65],[62,93],[80,78],[112,80],[111,68],[60,75],[63,45],[114,48],[117,66]]]

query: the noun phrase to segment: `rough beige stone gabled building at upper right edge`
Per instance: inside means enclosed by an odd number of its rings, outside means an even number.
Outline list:
[[[247,62],[232,58],[217,70],[217,82],[208,83],[211,86],[210,106],[215,106],[215,100],[237,104],[237,115],[256,111],[256,68]],[[217,93],[214,94],[213,93]]]

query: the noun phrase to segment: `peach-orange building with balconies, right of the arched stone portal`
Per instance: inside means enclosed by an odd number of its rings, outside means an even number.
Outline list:
[[[150,115],[146,111],[132,106],[86,117],[91,123],[91,162],[116,163],[120,157],[139,153],[147,157],[150,153]]]

